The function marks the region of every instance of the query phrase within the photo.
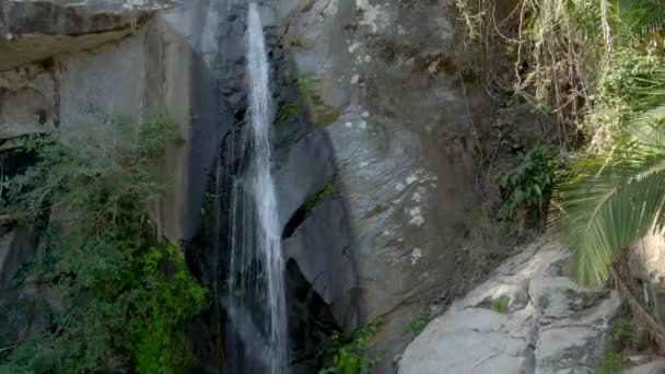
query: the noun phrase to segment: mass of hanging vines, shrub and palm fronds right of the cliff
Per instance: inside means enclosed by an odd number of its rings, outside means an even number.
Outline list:
[[[467,39],[512,68],[480,67],[488,92],[537,115],[545,140],[500,176],[501,215],[549,215],[578,279],[602,285],[619,249],[665,224],[665,3],[513,4],[457,1]]]

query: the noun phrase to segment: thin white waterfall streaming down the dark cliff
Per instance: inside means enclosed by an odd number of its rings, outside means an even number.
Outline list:
[[[281,230],[270,174],[272,110],[264,31],[256,4],[247,13],[248,165],[233,184],[229,284],[230,329],[244,348],[232,372],[287,371],[287,312]],[[233,343],[232,343],[233,344]],[[267,352],[266,352],[267,350]]]

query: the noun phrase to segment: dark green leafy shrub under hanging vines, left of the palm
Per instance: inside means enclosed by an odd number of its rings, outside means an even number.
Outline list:
[[[557,168],[555,155],[542,145],[536,145],[527,153],[521,154],[517,165],[499,182],[504,196],[500,217],[512,219],[521,209],[536,215],[541,214],[551,192]]]

